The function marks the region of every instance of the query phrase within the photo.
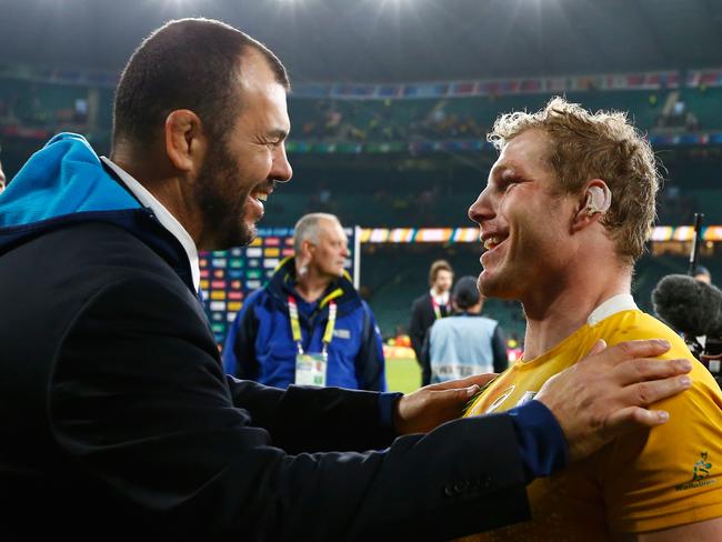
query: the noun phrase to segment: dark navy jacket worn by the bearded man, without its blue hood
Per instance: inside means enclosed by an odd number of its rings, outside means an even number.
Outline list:
[[[7,250],[0,300],[3,540],[434,540],[529,513],[509,416],[392,443],[377,393],[225,377],[193,292],[116,225]]]

